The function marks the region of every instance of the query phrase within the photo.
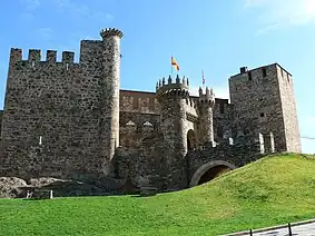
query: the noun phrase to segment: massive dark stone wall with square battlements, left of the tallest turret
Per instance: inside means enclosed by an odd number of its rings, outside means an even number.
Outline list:
[[[97,175],[106,165],[104,139],[108,124],[104,110],[110,101],[102,65],[104,45],[98,40],[81,41],[80,62],[72,52],[56,51],[40,60],[39,50],[30,50],[28,60],[22,51],[12,49],[4,101],[4,157],[1,175],[69,177]],[[111,63],[111,62],[110,62]],[[110,124],[109,124],[110,125]],[[31,158],[42,137],[45,153]],[[79,158],[78,158],[79,157]]]

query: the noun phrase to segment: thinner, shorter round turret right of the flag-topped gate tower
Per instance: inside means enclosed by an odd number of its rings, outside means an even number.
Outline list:
[[[206,87],[206,94],[199,88],[198,111],[200,119],[200,141],[201,144],[214,144],[214,109],[215,95],[213,89]]]

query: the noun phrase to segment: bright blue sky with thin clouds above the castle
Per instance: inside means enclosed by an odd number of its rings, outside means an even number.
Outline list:
[[[191,90],[228,98],[239,67],[280,63],[293,73],[303,137],[315,137],[315,0],[11,0],[0,9],[0,109],[11,47],[76,51],[99,30],[121,29],[121,88],[154,91],[175,56]],[[304,153],[315,140],[302,139]]]

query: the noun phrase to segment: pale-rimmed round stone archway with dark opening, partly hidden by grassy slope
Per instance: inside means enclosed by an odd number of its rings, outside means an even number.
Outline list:
[[[236,166],[224,160],[209,161],[196,170],[196,173],[194,174],[190,180],[189,187],[194,187],[210,181],[214,178],[218,177],[219,175],[236,168],[237,168]]]

